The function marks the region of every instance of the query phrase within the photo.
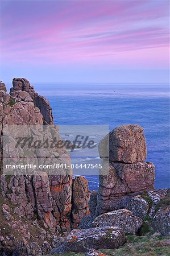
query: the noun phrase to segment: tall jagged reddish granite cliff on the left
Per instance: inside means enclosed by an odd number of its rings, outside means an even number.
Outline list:
[[[27,79],[14,79],[10,95],[6,91],[5,84],[1,83],[0,135],[5,125],[27,125],[38,127],[33,131],[39,138],[56,138],[57,141],[61,141],[59,129],[53,125],[49,102],[35,92]],[[2,138],[0,142],[2,164]],[[6,144],[3,150],[6,147],[8,150],[11,145]],[[20,150],[22,151],[22,148]],[[42,151],[35,150],[35,156],[39,154],[42,155]],[[54,157],[60,164],[68,163],[71,166],[71,159],[64,146],[50,148],[50,151],[43,150],[43,154],[42,159],[39,158],[39,163],[43,162],[43,156],[45,156]],[[28,155],[27,159],[29,157]],[[34,175],[11,176],[1,173],[1,218],[3,221],[0,228],[2,234],[0,254],[6,255],[8,250],[11,254],[16,250],[18,255],[45,254],[51,249],[49,242],[52,238],[55,240],[56,236],[68,234],[72,225],[74,226],[75,223],[78,225],[80,218],[88,214],[88,181],[84,178],[77,178],[73,182],[71,168],[67,172],[62,168],[59,171],[57,175],[55,172],[53,175],[47,175],[46,172],[40,175],[35,172]],[[77,190],[73,192],[73,195],[72,183],[73,191],[74,187]],[[78,204],[80,195],[82,207]],[[75,218],[76,207],[78,207],[78,218]],[[10,232],[7,232],[9,229]],[[18,236],[20,233],[21,235]]]

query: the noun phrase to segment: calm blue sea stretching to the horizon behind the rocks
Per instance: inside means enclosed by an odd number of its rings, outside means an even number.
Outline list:
[[[156,168],[156,188],[170,185],[168,85],[34,84],[52,106],[57,125],[119,125],[144,127],[147,161]],[[97,189],[98,177],[88,177]]]

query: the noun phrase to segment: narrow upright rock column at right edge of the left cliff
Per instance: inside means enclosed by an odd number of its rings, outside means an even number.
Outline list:
[[[72,228],[77,228],[82,217],[89,214],[90,191],[85,177],[76,177],[72,185]]]

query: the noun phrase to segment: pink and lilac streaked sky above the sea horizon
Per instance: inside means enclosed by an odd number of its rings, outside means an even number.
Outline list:
[[[77,69],[79,80],[90,69],[167,70],[168,11],[164,0],[2,1],[4,79],[22,71],[39,80],[45,69],[48,80],[55,67],[73,81]]]

